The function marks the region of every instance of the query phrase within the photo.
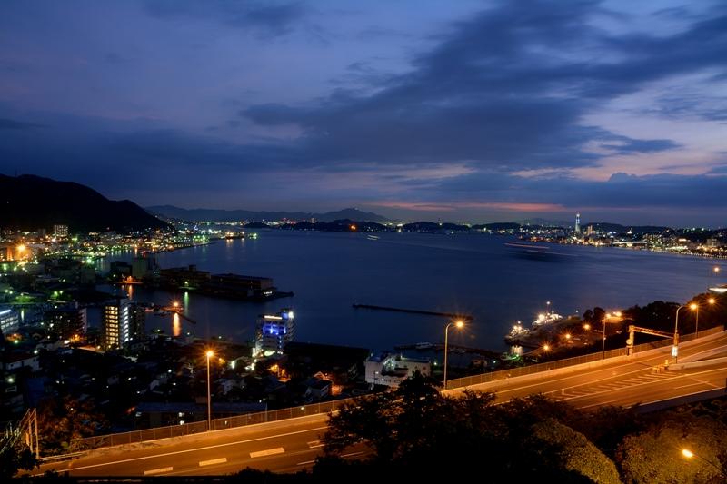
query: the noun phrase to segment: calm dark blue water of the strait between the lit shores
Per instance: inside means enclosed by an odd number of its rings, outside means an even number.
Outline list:
[[[266,303],[227,301],[194,293],[134,287],[133,299],[181,301],[198,336],[254,338],[258,314],[292,307],[298,341],[385,350],[418,341],[443,341],[445,319],[387,311],[355,310],[354,302],[463,311],[474,316],[450,341],[504,349],[514,321],[527,325],[545,301],[560,314],[595,305],[622,309],[654,300],[686,301],[718,282],[715,262],[627,249],[553,246],[563,256],[530,259],[504,246],[511,239],[480,234],[431,235],[259,231],[256,240],[220,241],[157,254],[161,267],[196,264],[211,272],[268,276],[292,298]],[[121,259],[112,257],[112,260]],[[723,273],[723,272],[722,272]],[[149,315],[147,328],[174,332],[171,318]]]

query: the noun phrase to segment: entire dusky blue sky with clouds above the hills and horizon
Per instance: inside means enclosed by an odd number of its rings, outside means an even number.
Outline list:
[[[727,4],[3,0],[0,173],[143,205],[724,226]]]

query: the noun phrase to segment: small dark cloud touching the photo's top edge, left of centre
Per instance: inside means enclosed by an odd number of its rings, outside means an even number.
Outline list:
[[[302,2],[250,0],[147,0],[146,11],[158,18],[212,19],[232,27],[253,28],[270,36],[285,35],[309,13]]]

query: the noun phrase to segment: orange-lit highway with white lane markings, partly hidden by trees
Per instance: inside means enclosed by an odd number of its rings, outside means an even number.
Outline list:
[[[727,332],[680,345],[680,361],[704,351],[727,351]],[[688,370],[658,369],[671,347],[632,360],[613,359],[603,366],[568,374],[519,377],[470,387],[495,391],[498,401],[543,393],[589,409],[600,405],[632,406],[725,387],[727,362]],[[461,389],[448,390],[456,394]],[[282,420],[249,427],[217,430],[195,436],[98,449],[80,459],[48,463],[72,476],[221,475],[245,467],[290,472],[310,468],[323,447],[325,415]],[[363,455],[364,446],[346,457]]]

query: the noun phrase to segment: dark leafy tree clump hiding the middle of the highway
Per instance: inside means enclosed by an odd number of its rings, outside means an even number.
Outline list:
[[[433,382],[415,376],[395,391],[364,398],[331,416],[325,458],[314,475],[353,469],[335,456],[365,444],[373,457],[355,464],[356,476],[405,475],[428,479],[452,462],[459,473],[487,469],[494,482],[617,482],[610,459],[571,429],[579,412],[543,396],[493,405],[491,393],[439,394]],[[371,466],[376,473],[369,473]],[[592,470],[585,469],[593,466]],[[591,472],[591,474],[589,474]],[[614,478],[615,476],[615,478]],[[614,480],[615,479],[615,480]]]

